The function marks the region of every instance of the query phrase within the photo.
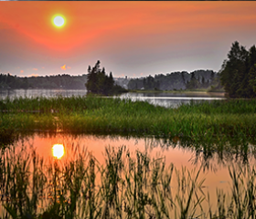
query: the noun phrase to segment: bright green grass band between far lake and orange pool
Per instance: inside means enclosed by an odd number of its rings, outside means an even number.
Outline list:
[[[130,99],[93,97],[0,100],[0,130],[255,138],[256,99],[155,107]]]

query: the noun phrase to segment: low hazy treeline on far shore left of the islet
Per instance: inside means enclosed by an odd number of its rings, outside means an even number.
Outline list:
[[[87,75],[56,75],[20,78],[0,74],[0,89],[85,89]]]

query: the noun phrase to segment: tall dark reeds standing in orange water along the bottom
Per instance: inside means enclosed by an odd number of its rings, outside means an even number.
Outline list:
[[[204,193],[201,169],[107,147],[100,163],[79,146],[63,160],[33,148],[1,151],[1,218],[255,218],[255,168],[230,167],[230,190]]]

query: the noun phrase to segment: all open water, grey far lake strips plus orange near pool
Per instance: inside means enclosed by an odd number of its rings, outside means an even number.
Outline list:
[[[84,96],[86,90],[62,90],[62,89],[15,89],[0,90],[2,99],[6,97],[70,97]],[[177,107],[180,104],[189,104],[193,101],[213,99],[225,99],[220,93],[125,93],[120,96],[122,99],[139,99],[148,101],[154,105],[164,107]],[[253,151],[254,146],[249,144],[249,150],[246,154],[242,154],[239,150],[232,151],[231,148],[224,151],[218,151],[216,148],[205,151],[202,148],[195,148],[193,145],[184,146],[179,139],[176,141],[166,141],[164,139],[155,139],[153,137],[131,138],[121,136],[95,136],[95,135],[71,135],[71,134],[39,134],[21,139],[16,142],[16,149],[26,147],[27,150],[34,148],[40,156],[48,159],[52,157],[52,147],[54,144],[63,144],[66,151],[73,145],[78,145],[80,149],[86,149],[91,152],[98,162],[104,163],[104,153],[106,147],[112,146],[119,148],[125,145],[126,148],[135,155],[135,151],[147,152],[151,158],[165,158],[166,164],[173,163],[177,170],[186,167],[187,170],[202,168],[200,179],[206,179],[204,183],[204,193],[209,193],[211,197],[216,197],[216,190],[223,189],[229,191],[230,177],[229,166],[234,163],[240,165],[255,165],[255,157]],[[69,154],[64,153],[63,158],[69,159]],[[216,198],[215,198],[216,200]]]

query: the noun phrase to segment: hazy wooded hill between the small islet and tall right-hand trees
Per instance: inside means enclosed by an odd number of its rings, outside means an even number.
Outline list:
[[[176,89],[209,89],[221,90],[219,74],[212,70],[196,70],[155,75],[145,78],[133,78],[128,89],[176,90]]]

